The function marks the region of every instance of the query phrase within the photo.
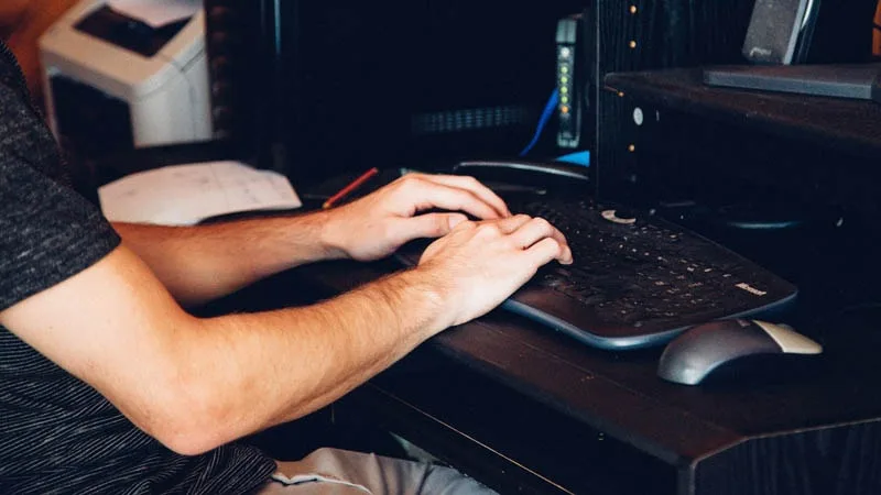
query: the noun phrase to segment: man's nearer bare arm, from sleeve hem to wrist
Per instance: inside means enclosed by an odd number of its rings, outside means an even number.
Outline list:
[[[312,413],[449,326],[431,267],[316,305],[196,318],[124,246],[0,324],[181,453]],[[100,294],[100,297],[95,297]]]

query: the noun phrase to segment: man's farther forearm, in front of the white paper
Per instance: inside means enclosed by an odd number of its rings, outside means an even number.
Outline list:
[[[320,212],[196,227],[113,224],[123,243],[184,305],[225,296],[304,263],[338,257],[323,241],[324,227]]]

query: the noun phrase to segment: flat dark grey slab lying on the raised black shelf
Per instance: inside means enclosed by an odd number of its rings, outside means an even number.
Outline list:
[[[826,96],[881,103],[881,64],[743,65],[704,69],[709,86]]]

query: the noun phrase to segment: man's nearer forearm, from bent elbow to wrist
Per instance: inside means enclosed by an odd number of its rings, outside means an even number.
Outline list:
[[[197,453],[315,411],[445,328],[443,306],[424,274],[404,272],[305,308],[203,320],[175,341],[189,413],[176,433],[153,433]]]

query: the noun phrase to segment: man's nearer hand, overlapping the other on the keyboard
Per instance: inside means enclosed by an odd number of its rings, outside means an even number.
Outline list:
[[[552,260],[573,261],[563,234],[544,219],[518,215],[460,222],[425,250],[415,271],[444,288],[445,323],[454,326],[489,312]]]

